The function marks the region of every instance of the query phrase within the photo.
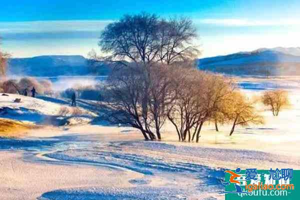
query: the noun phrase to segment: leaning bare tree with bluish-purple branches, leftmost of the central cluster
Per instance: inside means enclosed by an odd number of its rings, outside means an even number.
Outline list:
[[[114,72],[106,82],[99,106],[103,118],[111,123],[121,123],[137,128],[144,138],[155,139],[150,130],[151,121],[143,116],[143,71],[139,66],[123,67]]]

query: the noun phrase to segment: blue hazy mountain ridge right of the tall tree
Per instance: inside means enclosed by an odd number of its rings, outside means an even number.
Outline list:
[[[236,75],[300,75],[300,48],[259,48],[198,60],[198,67]]]

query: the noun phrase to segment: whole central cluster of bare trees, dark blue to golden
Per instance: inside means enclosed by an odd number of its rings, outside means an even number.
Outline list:
[[[187,18],[125,15],[101,33],[99,46],[113,63],[99,105],[106,120],[161,139],[169,121],[179,140],[198,142],[204,122],[262,123],[254,106],[221,75],[194,67],[196,29]],[[93,59],[99,57],[94,56]]]

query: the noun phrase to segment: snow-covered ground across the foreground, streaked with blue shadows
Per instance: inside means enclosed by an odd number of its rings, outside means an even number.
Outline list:
[[[243,91],[253,96],[263,89]],[[24,138],[2,138],[0,199],[223,199],[217,193],[225,168],[300,168],[300,89],[288,90],[292,106],[278,117],[258,105],[265,124],[237,127],[232,136],[230,124],[219,132],[205,124],[199,143],[178,142],[168,125],[162,141],[143,141],[130,127],[91,124],[45,126]],[[14,117],[24,115],[23,108],[56,117],[69,103],[45,97],[12,103],[16,97],[0,96],[0,107],[20,110],[10,113]],[[86,115],[96,115],[91,102],[79,103]]]

